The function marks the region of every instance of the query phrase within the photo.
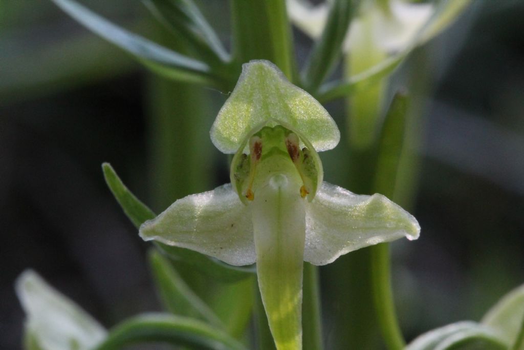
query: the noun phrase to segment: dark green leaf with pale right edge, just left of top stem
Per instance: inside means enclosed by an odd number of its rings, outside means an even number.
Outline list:
[[[176,35],[187,39],[208,63],[226,62],[229,55],[213,28],[191,0],[146,0],[151,13]]]

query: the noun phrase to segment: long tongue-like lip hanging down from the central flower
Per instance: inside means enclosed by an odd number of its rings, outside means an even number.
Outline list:
[[[302,348],[305,200],[292,177],[275,175],[253,200],[260,295],[278,350]]]

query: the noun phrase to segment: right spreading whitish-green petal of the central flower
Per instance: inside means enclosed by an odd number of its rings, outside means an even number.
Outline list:
[[[366,246],[417,239],[419,232],[417,220],[383,195],[355,195],[323,182],[306,205],[304,260],[324,265]]]

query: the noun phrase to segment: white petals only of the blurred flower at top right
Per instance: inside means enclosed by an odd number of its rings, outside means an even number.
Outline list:
[[[439,34],[471,0],[414,3],[407,0],[364,0],[352,20],[344,51],[369,45],[386,55],[422,45]],[[305,34],[319,38],[330,1],[313,6],[307,0],[287,0],[288,14]]]

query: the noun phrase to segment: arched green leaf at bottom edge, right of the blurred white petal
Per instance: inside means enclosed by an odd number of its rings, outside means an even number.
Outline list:
[[[137,343],[163,342],[191,349],[244,350],[223,331],[188,317],[144,314],[114,327],[106,340],[93,350],[116,350]]]

